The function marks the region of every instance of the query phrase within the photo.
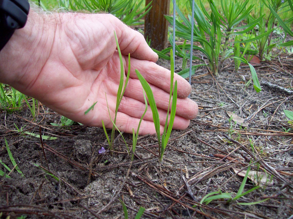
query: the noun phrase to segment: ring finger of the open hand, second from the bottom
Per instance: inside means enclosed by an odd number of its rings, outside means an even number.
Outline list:
[[[145,104],[138,100],[132,99],[130,97],[124,97],[122,98],[122,101],[119,105],[118,110],[121,113],[125,113],[127,115],[130,115],[131,117],[140,119],[142,117],[142,114],[145,111]],[[160,118],[160,124],[165,125],[167,111],[159,108],[158,113]],[[170,118],[170,113],[169,113],[169,118]],[[153,122],[153,114],[152,114],[150,106],[148,106],[147,112],[144,115],[143,119]],[[189,122],[190,120],[176,115],[174,119],[173,129],[184,130],[188,127]]]

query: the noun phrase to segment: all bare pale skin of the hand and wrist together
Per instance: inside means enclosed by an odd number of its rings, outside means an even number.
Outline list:
[[[107,94],[114,118],[120,80],[120,60],[114,31],[122,52],[125,72],[128,54],[131,73],[121,101],[116,125],[132,133],[144,112],[142,86],[138,69],[149,82],[159,109],[161,132],[168,108],[170,71],[157,65],[158,56],[144,37],[109,14],[54,13],[38,14],[30,10],[24,28],[16,30],[0,52],[0,82],[38,99],[42,104],[76,122],[112,128],[105,99]],[[126,76],[124,77],[124,80]],[[175,74],[178,100],[173,129],[186,129],[198,112],[188,99],[189,83]],[[93,105],[88,114],[84,112]],[[150,107],[139,134],[155,133]]]

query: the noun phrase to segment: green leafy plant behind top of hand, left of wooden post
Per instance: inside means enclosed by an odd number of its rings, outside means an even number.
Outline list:
[[[141,20],[151,9],[151,2],[144,8],[141,5],[144,1],[132,0],[60,0],[60,6],[64,9],[73,11],[86,10],[91,13],[106,12],[115,15],[126,25],[141,24]]]

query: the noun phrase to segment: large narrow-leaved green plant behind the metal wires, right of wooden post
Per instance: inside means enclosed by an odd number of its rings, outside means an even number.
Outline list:
[[[191,1],[190,1],[191,4]],[[195,49],[202,51],[208,58],[209,68],[213,73],[217,75],[218,70],[220,71],[223,62],[229,55],[233,52],[233,49],[229,49],[229,39],[232,35],[241,35],[248,31],[251,31],[253,27],[257,24],[258,20],[244,25],[238,26],[238,24],[244,20],[249,13],[252,11],[253,5],[246,8],[248,0],[243,3],[221,0],[221,6],[224,16],[222,16],[215,6],[214,1],[209,0],[209,6],[212,12],[209,14],[202,1],[200,1],[200,7],[195,3],[194,18],[197,22],[198,27],[194,28],[193,40],[200,42],[201,47],[195,46]],[[176,36],[182,37],[183,39],[190,40],[191,34],[191,22],[190,16],[189,20],[185,18],[183,13],[176,6],[176,11],[178,12],[181,20],[184,21],[185,25],[180,23],[176,19]],[[173,25],[173,18],[166,16],[166,19]],[[237,29],[243,29],[241,31],[236,31]],[[222,33],[224,32],[224,33]],[[208,37],[206,37],[208,35]],[[224,44],[222,45],[222,38],[224,38]],[[222,56],[219,60],[220,49],[223,49]]]

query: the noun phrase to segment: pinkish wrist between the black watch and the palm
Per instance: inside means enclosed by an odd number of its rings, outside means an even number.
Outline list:
[[[22,29],[15,30],[0,51],[0,82],[19,91],[38,77],[54,40],[55,19],[30,10]]]

